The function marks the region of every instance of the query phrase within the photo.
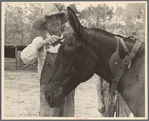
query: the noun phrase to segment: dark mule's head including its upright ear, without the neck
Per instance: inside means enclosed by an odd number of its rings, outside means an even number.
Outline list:
[[[45,90],[50,107],[62,105],[65,96],[81,82],[91,78],[97,67],[98,57],[88,45],[88,34],[74,11],[68,9],[69,23],[73,29],[61,47]]]

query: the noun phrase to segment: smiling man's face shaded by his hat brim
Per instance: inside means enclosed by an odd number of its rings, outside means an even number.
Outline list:
[[[61,19],[59,16],[50,16],[48,17],[45,26],[47,30],[51,33],[58,32],[61,30]]]

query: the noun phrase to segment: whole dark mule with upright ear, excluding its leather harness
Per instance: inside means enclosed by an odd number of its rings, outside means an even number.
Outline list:
[[[64,97],[81,82],[90,79],[94,73],[109,84],[113,74],[109,59],[117,48],[114,34],[105,30],[83,27],[74,11],[68,7],[69,23],[73,29],[59,48],[45,97],[50,107],[62,105]],[[135,40],[122,37],[132,49]],[[119,43],[119,56],[126,52]],[[118,92],[122,95],[135,117],[145,116],[145,44],[142,43],[130,68],[126,68],[119,83]]]

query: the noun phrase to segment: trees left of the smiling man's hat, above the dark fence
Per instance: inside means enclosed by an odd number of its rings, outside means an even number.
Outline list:
[[[41,4],[22,4],[23,6],[19,4],[14,6],[11,3],[6,3],[5,44],[28,45],[37,36],[38,32],[32,30],[31,24],[37,17],[41,16]]]

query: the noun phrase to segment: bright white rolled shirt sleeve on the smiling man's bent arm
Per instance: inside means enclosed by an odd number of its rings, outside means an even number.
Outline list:
[[[37,44],[43,41],[42,37],[36,37],[31,44],[29,44],[22,52],[21,59],[25,64],[33,64],[35,59],[39,56]],[[43,51],[43,50],[42,50]]]

